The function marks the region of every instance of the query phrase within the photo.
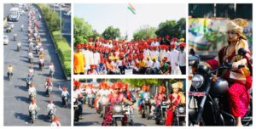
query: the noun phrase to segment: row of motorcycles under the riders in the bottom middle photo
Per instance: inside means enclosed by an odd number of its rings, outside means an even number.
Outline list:
[[[94,108],[94,105],[96,103],[95,101],[95,94],[86,94],[84,93],[84,103],[88,104],[88,106],[92,109]],[[145,95],[143,98],[143,106],[141,110],[141,117],[145,118],[147,120],[154,119],[155,123],[157,125],[165,125],[166,122],[166,110],[169,108],[170,103],[163,101],[159,105],[156,105],[151,102],[151,99],[153,96]],[[110,126],[133,126],[134,125],[134,117],[135,117],[135,111],[132,106],[125,104],[124,102],[119,102],[115,104],[104,104],[103,102],[107,99],[107,96],[102,96],[99,100],[98,108],[96,108],[96,113],[100,115],[100,117],[104,118],[104,115],[106,114],[106,110],[108,106],[112,106],[112,121],[110,123]],[[79,121],[79,115],[81,115],[81,112],[79,113],[80,106],[83,106],[81,103],[79,103],[81,100],[76,100],[74,102],[74,121]],[[153,111],[153,117],[151,114],[151,108],[154,106]],[[158,107],[158,108],[157,108]],[[185,117],[186,117],[186,110],[185,110],[185,104],[177,105],[177,108],[174,110],[174,121],[172,125],[174,126],[185,126]]]

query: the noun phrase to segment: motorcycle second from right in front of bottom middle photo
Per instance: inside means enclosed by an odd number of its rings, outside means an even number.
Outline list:
[[[162,101],[158,106],[153,104],[155,106],[154,109],[154,121],[156,125],[160,125],[160,122],[163,121],[166,122],[166,110],[168,109],[168,103],[166,101]]]

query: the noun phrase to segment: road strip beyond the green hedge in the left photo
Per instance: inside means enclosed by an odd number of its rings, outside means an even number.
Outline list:
[[[60,6],[57,6],[55,4],[49,4],[49,7],[54,9],[56,13],[58,13],[60,16],[62,16],[62,36],[64,36],[71,47],[71,16],[66,16],[65,13],[67,13],[67,8],[60,8]]]

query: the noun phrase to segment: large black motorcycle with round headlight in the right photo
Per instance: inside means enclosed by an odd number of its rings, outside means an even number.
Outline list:
[[[238,53],[244,56],[246,51],[241,48]],[[235,117],[228,109],[227,93],[230,83],[216,76],[218,71],[231,70],[232,64],[224,63],[219,65],[217,70],[210,70],[201,64],[195,66],[196,71],[191,78],[192,84],[189,89],[189,126],[235,126]],[[244,65],[239,65],[238,69],[242,67]],[[252,101],[247,115],[241,118],[244,126],[253,122],[251,108]]]

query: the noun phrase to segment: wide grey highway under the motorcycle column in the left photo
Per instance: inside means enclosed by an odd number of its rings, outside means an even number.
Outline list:
[[[4,4],[4,6],[9,6],[9,4]],[[8,14],[9,12],[4,12]],[[20,16],[20,20],[15,22],[15,28],[11,33],[6,33],[3,29],[4,35],[9,36],[9,45],[4,46],[4,126],[50,126],[50,122],[47,118],[47,104],[49,99],[54,100],[54,104],[57,107],[56,115],[60,117],[61,126],[71,125],[71,105],[68,108],[64,108],[61,104],[61,91],[58,90],[57,86],[67,86],[69,93],[71,91],[70,81],[66,81],[64,77],[63,70],[61,68],[61,62],[57,58],[57,53],[55,53],[54,44],[49,36],[49,31],[46,28],[45,21],[39,21],[39,35],[42,38],[42,43],[44,45],[44,58],[45,67],[43,71],[38,70],[38,56],[33,51],[34,65],[29,64],[27,54],[28,54],[28,39],[27,39],[27,12],[26,15]],[[20,31],[20,25],[24,25],[24,32]],[[22,43],[20,52],[16,51],[16,42],[13,40],[14,33],[18,34],[18,40]],[[44,94],[44,82],[48,77],[49,62],[55,64],[55,75],[53,78],[53,91],[49,98],[45,97]],[[9,64],[14,66],[14,76],[11,81],[7,80],[7,67]],[[28,73],[28,66],[33,66],[35,70],[34,83],[37,88],[37,104],[40,110],[38,111],[38,119],[34,124],[29,122],[28,116],[28,106],[27,101],[28,92],[26,88],[26,76]]]

